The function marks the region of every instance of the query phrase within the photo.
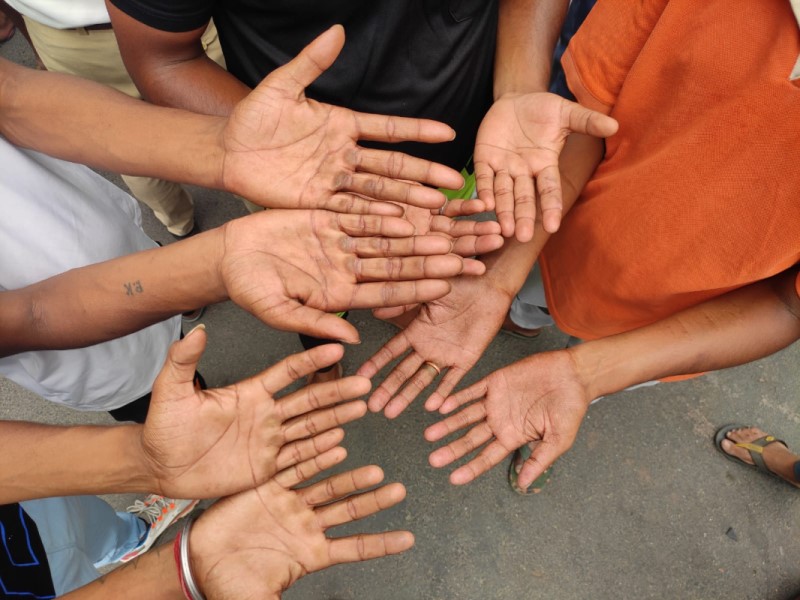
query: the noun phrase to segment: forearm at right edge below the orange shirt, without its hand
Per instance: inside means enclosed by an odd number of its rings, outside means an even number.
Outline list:
[[[653,325],[571,348],[589,398],[628,386],[744,364],[800,338],[796,269]]]

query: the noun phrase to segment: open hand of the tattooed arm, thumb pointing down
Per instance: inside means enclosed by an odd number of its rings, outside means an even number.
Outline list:
[[[229,221],[223,237],[231,300],[277,329],[347,343],[358,331],[330,313],[427,302],[449,291],[445,278],[484,272],[398,217],[271,210]]]

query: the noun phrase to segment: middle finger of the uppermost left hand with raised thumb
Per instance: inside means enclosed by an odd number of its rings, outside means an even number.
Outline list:
[[[458,190],[464,185],[464,178],[458,171],[402,152],[359,148],[356,168],[367,173],[415,181],[437,188]],[[438,206],[441,206],[441,202]]]

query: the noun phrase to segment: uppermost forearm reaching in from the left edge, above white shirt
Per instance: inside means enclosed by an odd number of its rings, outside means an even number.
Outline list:
[[[0,133],[58,158],[220,188],[225,124],[0,59]]]

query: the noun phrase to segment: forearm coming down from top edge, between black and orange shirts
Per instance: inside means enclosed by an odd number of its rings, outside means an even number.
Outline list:
[[[568,0],[501,0],[494,97],[546,92]]]

